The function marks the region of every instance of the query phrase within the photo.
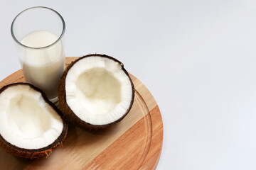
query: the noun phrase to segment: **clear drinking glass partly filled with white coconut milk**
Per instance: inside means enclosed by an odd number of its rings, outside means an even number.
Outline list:
[[[43,6],[22,11],[11,24],[26,81],[43,90],[53,102],[58,99],[58,81],[65,67],[64,33],[63,17]]]

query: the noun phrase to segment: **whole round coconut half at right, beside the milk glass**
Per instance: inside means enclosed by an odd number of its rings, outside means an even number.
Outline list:
[[[106,128],[129,113],[134,85],[118,60],[107,55],[86,55],[63,73],[58,98],[67,120],[83,128]]]

